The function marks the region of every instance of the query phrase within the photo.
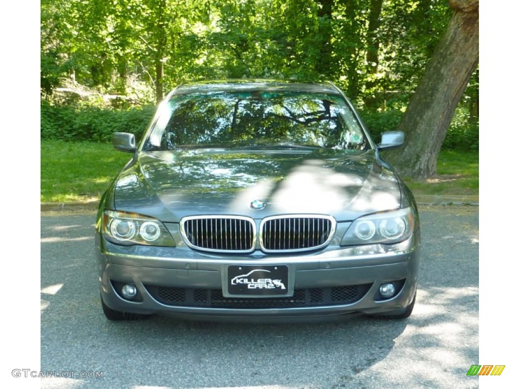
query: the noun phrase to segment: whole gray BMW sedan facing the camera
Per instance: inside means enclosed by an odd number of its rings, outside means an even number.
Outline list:
[[[333,84],[230,80],[168,94],[104,193],[95,246],[108,319],[408,317],[411,191]]]

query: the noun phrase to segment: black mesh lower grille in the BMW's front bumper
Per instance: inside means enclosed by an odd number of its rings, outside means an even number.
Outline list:
[[[364,297],[371,285],[295,289],[293,297],[274,298],[224,297],[220,289],[173,288],[155,285],[145,285],[145,287],[155,300],[166,305],[178,307],[268,309],[352,304]]]

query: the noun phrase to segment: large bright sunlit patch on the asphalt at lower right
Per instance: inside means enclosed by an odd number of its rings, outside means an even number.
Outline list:
[[[479,321],[473,312],[477,295],[478,288],[420,291],[413,315],[394,348],[356,379],[390,381],[396,388],[477,387],[477,379],[466,376],[479,354]]]

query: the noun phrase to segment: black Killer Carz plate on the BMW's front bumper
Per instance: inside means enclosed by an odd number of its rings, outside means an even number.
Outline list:
[[[288,293],[289,270],[286,265],[229,266],[229,295],[269,296]]]

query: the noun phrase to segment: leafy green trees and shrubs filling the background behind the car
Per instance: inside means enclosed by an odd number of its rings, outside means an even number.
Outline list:
[[[362,107],[375,141],[398,127],[452,16],[446,0],[42,0],[40,9],[46,99],[63,80],[141,104],[200,79],[331,80]],[[445,148],[477,149],[477,76]],[[140,134],[153,111],[71,96],[42,103],[43,139]]]

